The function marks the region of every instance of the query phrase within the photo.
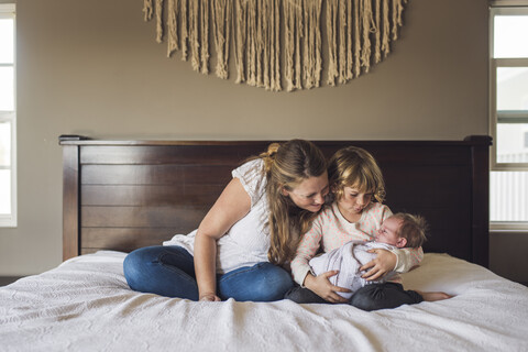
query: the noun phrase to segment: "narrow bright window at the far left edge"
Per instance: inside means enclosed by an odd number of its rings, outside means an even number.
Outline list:
[[[0,227],[16,227],[14,4],[0,3]]]

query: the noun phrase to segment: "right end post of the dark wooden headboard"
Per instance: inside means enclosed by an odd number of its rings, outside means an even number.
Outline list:
[[[488,135],[470,135],[473,158],[473,263],[490,267],[490,145]]]

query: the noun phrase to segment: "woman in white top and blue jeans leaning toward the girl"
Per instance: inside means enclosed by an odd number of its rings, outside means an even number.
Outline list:
[[[311,142],[272,144],[232,172],[189,235],[130,253],[129,286],[193,300],[272,301],[293,287],[280,267],[295,254],[328,194],[327,164]]]

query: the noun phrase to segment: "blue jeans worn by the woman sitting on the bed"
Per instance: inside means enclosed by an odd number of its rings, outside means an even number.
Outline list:
[[[194,258],[180,246],[155,245],[135,250],[124,258],[123,271],[133,290],[198,300]],[[223,300],[279,300],[293,286],[290,275],[271,263],[217,274],[217,295]]]

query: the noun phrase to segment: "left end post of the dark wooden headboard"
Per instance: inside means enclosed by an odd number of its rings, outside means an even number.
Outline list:
[[[63,144],[79,141],[79,135],[61,135],[63,146],[63,261],[79,255],[79,146]]]

